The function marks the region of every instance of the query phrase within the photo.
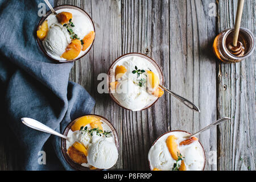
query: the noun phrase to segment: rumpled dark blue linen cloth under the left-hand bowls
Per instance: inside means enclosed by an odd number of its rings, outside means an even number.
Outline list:
[[[82,86],[68,81],[73,63],[53,63],[39,49],[36,27],[42,2],[0,0],[0,98],[5,107],[1,122],[10,126],[11,135],[19,141],[22,169],[72,169],[61,154],[60,138],[20,121],[34,118],[62,133],[69,122],[89,114],[95,104]],[[46,164],[40,163],[40,151],[46,152]]]

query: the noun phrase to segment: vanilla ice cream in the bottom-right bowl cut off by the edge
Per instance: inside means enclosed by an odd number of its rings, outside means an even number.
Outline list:
[[[172,171],[176,160],[172,158],[166,144],[166,140],[170,135],[175,135],[175,137],[177,138],[176,143],[180,154],[184,157],[183,160],[187,171],[203,170],[205,156],[204,149],[199,141],[195,141],[188,145],[179,145],[180,142],[185,140],[185,138],[183,137],[189,135],[184,131],[173,131],[171,133],[167,133],[155,142],[155,144],[150,148],[150,151],[148,152],[150,168],[157,168],[161,171]]]

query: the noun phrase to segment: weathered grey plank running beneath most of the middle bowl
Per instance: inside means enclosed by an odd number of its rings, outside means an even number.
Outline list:
[[[122,1],[122,53],[144,53],[159,64],[169,85],[168,1]],[[149,169],[152,143],[170,127],[170,101],[165,94],[150,109],[123,112],[123,166]]]

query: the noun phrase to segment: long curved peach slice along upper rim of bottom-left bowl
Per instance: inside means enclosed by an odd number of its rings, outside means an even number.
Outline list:
[[[72,125],[71,130],[72,131],[80,130],[82,126],[89,125],[90,123],[95,121],[101,121],[101,119],[98,117],[94,117],[92,115],[86,115],[86,116],[77,118],[75,120],[75,123]]]

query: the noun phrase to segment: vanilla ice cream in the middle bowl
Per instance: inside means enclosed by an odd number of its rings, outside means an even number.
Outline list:
[[[147,59],[139,56],[127,56],[119,60],[113,70],[117,66],[122,65],[127,69],[127,72],[117,81],[119,84],[113,96],[117,99],[119,104],[133,111],[142,110],[144,107],[153,104],[158,97],[147,92],[147,76],[146,73],[141,74],[139,77],[133,73],[135,67],[143,69],[144,71],[150,70],[159,77],[158,71],[155,66]],[[113,78],[112,81],[115,81]],[[143,82],[139,85],[139,82]]]

